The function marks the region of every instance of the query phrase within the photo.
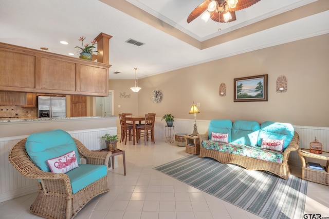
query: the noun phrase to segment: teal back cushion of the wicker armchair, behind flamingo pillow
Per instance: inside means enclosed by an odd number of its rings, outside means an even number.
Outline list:
[[[45,172],[50,172],[47,160],[73,150],[80,164],[79,151],[74,139],[61,129],[31,134],[26,140],[25,149],[33,163]]]

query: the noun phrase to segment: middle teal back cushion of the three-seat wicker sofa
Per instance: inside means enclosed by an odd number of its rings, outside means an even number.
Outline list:
[[[232,142],[257,146],[260,124],[255,121],[236,120],[232,126]]]

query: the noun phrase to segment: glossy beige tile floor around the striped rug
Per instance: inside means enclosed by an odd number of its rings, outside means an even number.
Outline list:
[[[119,167],[108,173],[110,191],[95,197],[75,218],[261,218],[152,169],[189,155],[185,147],[156,139],[156,144],[127,143],[118,144],[118,148],[125,150],[127,175],[123,175],[119,155]],[[293,174],[300,175],[300,167],[294,167]],[[35,195],[0,203],[0,218],[41,218],[29,212]],[[308,183],[305,213],[329,218],[328,186]]]

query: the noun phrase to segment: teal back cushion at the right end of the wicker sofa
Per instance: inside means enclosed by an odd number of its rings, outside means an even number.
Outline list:
[[[295,130],[293,125],[289,123],[276,123],[266,121],[261,124],[261,130],[258,135],[258,146],[262,146],[263,138],[270,138],[275,140],[283,140],[283,151],[288,147],[293,139]]]

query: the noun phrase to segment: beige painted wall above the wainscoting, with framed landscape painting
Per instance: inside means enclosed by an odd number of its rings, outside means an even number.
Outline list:
[[[142,78],[138,82],[142,88],[138,92],[138,111],[134,112],[155,112],[158,117],[172,113],[176,118],[193,120],[188,112],[194,101],[200,103],[197,120],[229,118],[329,127],[328,51],[329,34],[325,34]],[[268,74],[268,102],[234,103],[233,79],[261,74]],[[285,93],[276,92],[280,75],[288,79]],[[218,95],[221,83],[227,86],[225,97]],[[114,84],[115,115],[137,106],[135,95],[131,99],[118,98],[118,92],[133,93],[129,89],[133,81],[114,80],[110,88]],[[162,91],[161,103],[151,101],[153,89]],[[123,104],[117,108],[119,102],[129,102],[128,108]]]

